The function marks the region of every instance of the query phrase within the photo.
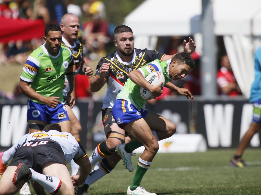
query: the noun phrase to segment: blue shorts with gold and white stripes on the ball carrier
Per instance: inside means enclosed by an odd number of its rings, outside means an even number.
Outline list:
[[[117,99],[112,108],[112,115],[117,125],[122,127],[122,124],[127,124],[139,118],[145,118],[148,114],[148,110],[138,110],[131,104],[130,101]]]

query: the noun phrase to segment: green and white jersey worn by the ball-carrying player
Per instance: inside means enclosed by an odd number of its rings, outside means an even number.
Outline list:
[[[139,68],[138,70],[141,72],[144,78],[148,76],[150,73],[159,71],[163,73],[165,77],[165,83],[169,82],[169,65],[171,60],[163,61],[154,60],[143,67]],[[131,79],[128,79],[125,82],[123,89],[117,95],[116,99],[124,99],[130,101],[137,109],[143,108],[145,106],[146,101],[140,95],[140,86],[135,84]]]

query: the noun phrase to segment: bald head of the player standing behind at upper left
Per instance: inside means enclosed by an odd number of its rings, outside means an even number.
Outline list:
[[[79,18],[74,14],[64,14],[61,18],[60,27],[63,37],[70,43],[70,45],[73,45],[79,32]]]

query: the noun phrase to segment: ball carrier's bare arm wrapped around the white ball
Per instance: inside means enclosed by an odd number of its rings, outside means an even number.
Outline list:
[[[129,79],[131,79],[135,84],[137,84],[140,87],[143,87],[144,89],[149,90],[154,97],[158,97],[162,94],[161,85],[163,82],[161,82],[156,87],[152,86],[141,74],[139,70],[133,70],[128,74]]]

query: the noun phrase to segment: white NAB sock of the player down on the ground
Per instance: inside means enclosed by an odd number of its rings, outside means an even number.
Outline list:
[[[49,192],[54,193],[62,185],[62,181],[54,176],[48,176],[34,171],[32,168],[29,168],[32,172],[32,180],[37,181],[43,188]]]

